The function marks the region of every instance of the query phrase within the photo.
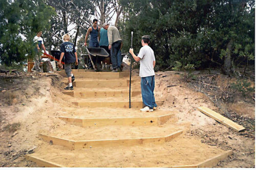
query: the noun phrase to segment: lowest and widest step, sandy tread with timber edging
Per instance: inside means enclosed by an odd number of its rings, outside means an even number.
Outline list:
[[[43,142],[27,160],[45,167],[214,167],[232,151],[179,135],[168,142],[70,150]]]

